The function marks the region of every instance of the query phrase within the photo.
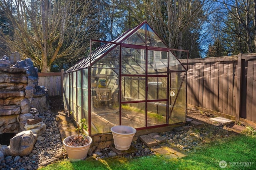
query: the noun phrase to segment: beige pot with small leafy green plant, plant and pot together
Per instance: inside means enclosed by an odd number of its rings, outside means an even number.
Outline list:
[[[81,119],[78,124],[78,135],[71,135],[63,140],[63,144],[66,148],[68,158],[71,162],[83,160],[86,158],[90,145],[92,144],[92,138],[88,135],[84,135],[84,130],[87,131],[88,127],[86,119]]]

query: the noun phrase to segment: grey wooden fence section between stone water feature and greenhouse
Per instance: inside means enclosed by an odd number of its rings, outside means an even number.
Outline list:
[[[63,95],[63,73],[61,72],[38,72],[38,86],[48,88],[49,96]]]

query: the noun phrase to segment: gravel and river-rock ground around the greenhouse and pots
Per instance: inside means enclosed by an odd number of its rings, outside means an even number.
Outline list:
[[[46,123],[46,131],[41,137],[38,137],[32,153],[29,156],[23,157],[6,156],[1,163],[1,170],[33,170],[68,158],[55,119],[56,114],[64,113],[62,99],[52,98],[50,104],[50,110],[39,115],[39,117],[42,117],[44,123]],[[166,139],[166,144],[170,145],[170,147],[177,147],[186,152],[193,152],[197,147],[213,139],[232,137],[237,134],[226,128],[226,126],[210,121],[209,119],[214,117],[212,114],[188,110],[187,117],[204,123],[204,126],[201,129],[190,127],[179,132],[169,131],[159,133],[160,136]],[[133,158],[154,154],[154,150],[148,148],[139,139],[133,141],[132,146],[137,149],[136,152],[126,154],[124,155],[125,157]],[[91,147],[88,154],[89,156],[94,156],[96,159],[116,156],[116,153],[110,149],[110,146],[103,149]]]

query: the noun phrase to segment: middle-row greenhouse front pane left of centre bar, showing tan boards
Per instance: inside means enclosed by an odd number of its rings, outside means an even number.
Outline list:
[[[122,102],[146,100],[146,77],[122,76]]]

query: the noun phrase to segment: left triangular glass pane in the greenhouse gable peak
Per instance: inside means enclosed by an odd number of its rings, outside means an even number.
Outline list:
[[[123,43],[134,45],[146,45],[146,24],[143,24],[135,33]]]

